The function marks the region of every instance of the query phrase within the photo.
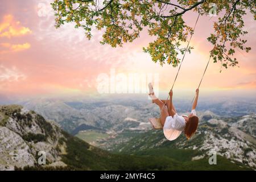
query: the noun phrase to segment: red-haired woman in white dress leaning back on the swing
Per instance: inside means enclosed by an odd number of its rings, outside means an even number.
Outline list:
[[[187,139],[191,138],[193,134],[195,134],[197,126],[199,124],[199,118],[196,116],[196,105],[199,96],[199,89],[196,89],[196,97],[195,101],[193,102],[191,114],[187,115],[178,115],[177,111],[172,104],[172,90],[170,90],[170,100],[159,100],[154,94],[154,90],[152,84],[148,84],[148,88],[150,93],[148,94],[151,99],[152,103],[155,103],[159,106],[161,112],[160,121],[163,126],[163,133],[164,136],[168,140],[175,140],[179,135],[184,131],[185,136]],[[166,102],[166,105],[164,103]],[[162,111],[161,111],[162,110]]]

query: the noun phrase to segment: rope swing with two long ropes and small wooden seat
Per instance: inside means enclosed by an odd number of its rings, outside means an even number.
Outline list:
[[[195,23],[195,26],[194,26],[194,28],[193,28],[193,32],[195,31],[196,24],[197,24],[197,22],[198,22],[199,16],[200,16],[200,13],[199,13],[199,15],[197,16],[196,23]],[[177,76],[179,75],[180,67],[181,67],[181,64],[183,63],[183,60],[184,60],[184,57],[185,57],[185,53],[187,52],[187,49],[188,49],[188,46],[189,46],[189,43],[190,43],[190,41],[191,41],[192,36],[193,36],[193,33],[191,34],[191,37],[189,38],[189,41],[188,41],[188,44],[187,44],[187,48],[185,49],[183,58],[182,58],[182,60],[181,60],[181,62],[180,62],[180,66],[179,66],[179,69],[178,69],[178,71],[177,71],[177,74],[176,74],[174,83],[172,84],[171,90],[174,88],[175,81],[176,81],[176,79],[177,79]],[[207,71],[207,68],[208,68],[208,65],[209,65],[209,62],[210,62],[210,58],[211,58],[211,57],[212,57],[212,56],[209,57],[207,66],[205,67],[203,76],[201,77],[201,81],[200,81],[200,83],[199,83],[199,86],[197,87],[198,89],[199,89],[199,87],[200,87],[200,85],[201,85],[201,82],[203,81],[203,78],[204,78],[205,72]],[[195,96],[196,96],[196,95],[195,95]],[[193,101],[195,100],[195,96],[193,97],[193,100],[192,100],[191,104],[192,104]],[[168,95],[166,101],[164,102],[163,107],[166,106],[166,102],[167,102],[168,98],[169,98],[169,95]],[[162,109],[160,110],[160,113],[162,113],[163,107],[162,107]],[[161,119],[160,119],[160,114],[159,114],[159,116],[156,117],[156,118],[149,118],[148,121],[150,121],[150,123],[151,123],[151,125],[152,125],[152,127],[153,127],[154,129],[156,129],[156,130],[163,129],[163,125],[162,125]]]

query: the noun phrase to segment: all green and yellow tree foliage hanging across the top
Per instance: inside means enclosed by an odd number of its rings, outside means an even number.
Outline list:
[[[104,32],[101,44],[112,47],[133,42],[139,38],[143,28],[155,40],[143,48],[150,53],[152,61],[161,65],[168,63],[174,67],[179,64],[179,54],[183,54],[183,43],[188,41],[193,29],[183,20],[183,14],[192,10],[201,15],[208,15],[211,3],[216,4],[216,14],[225,15],[214,23],[214,33],[208,41],[213,44],[210,55],[214,62],[221,61],[224,67],[236,65],[238,61],[232,56],[235,48],[245,49],[246,40],[241,36],[247,34],[243,30],[243,15],[246,10],[255,14],[255,2],[250,0],[218,1],[218,0],[178,0],[177,4],[167,0],[55,0],[56,27],[61,24],[75,22],[76,28],[82,27],[88,39],[92,37],[92,28]],[[228,44],[226,46],[226,44]],[[192,47],[188,47],[190,52]]]

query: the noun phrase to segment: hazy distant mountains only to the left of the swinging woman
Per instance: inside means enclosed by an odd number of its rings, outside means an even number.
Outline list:
[[[46,119],[55,121],[68,133],[77,134],[81,125],[118,132],[127,128],[150,129],[149,113],[158,114],[154,105],[131,100],[51,100],[39,99],[22,102]]]

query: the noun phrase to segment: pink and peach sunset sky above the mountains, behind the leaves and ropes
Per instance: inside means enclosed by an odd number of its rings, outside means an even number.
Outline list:
[[[66,96],[98,94],[97,77],[110,70],[116,73],[159,74],[159,89],[167,91],[177,68],[161,67],[142,51],[154,38],[143,31],[141,37],[122,48],[102,46],[101,32],[93,30],[86,39],[84,31],[74,25],[54,27],[55,17],[47,0],[0,2],[0,95],[3,96]],[[188,13],[186,22],[193,26],[197,14]],[[192,92],[199,84],[209,57],[211,45],[207,37],[217,17],[200,17],[191,46],[177,78],[174,92]],[[210,63],[201,92],[256,93],[255,22],[245,16],[249,53],[237,51],[239,67],[222,68]]]

